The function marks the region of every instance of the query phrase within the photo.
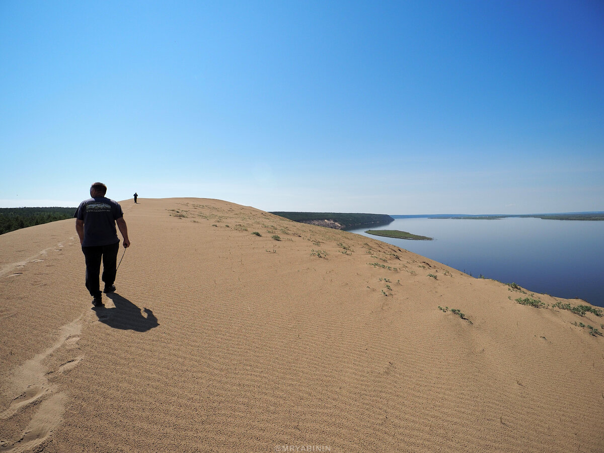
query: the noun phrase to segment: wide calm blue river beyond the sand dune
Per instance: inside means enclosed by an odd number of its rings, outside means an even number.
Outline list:
[[[372,236],[474,277],[517,283],[528,291],[578,297],[604,307],[604,221],[506,219],[395,219],[371,230],[433,237],[406,240]]]

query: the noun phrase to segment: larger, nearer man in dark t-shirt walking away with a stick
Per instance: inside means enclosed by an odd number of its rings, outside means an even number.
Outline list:
[[[107,186],[102,182],[95,182],[90,188],[88,200],[84,200],[77,208],[76,231],[80,237],[82,252],[86,259],[86,288],[93,297],[92,305],[103,306],[98,274],[103,261],[103,292],[115,291],[115,264],[117,251],[120,248],[120,239],[117,237],[115,223],[120,228],[124,238],[124,248],[130,246],[128,229],[124,220],[124,213],[117,201],[105,198]]]

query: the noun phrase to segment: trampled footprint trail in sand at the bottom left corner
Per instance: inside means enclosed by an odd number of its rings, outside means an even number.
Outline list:
[[[10,419],[28,406],[34,405],[36,411],[19,439],[14,442],[0,440],[2,453],[31,451],[45,442],[51,432],[59,426],[65,411],[66,395],[57,391],[57,386],[51,382],[51,379],[75,368],[84,356],[77,356],[64,362],[56,370],[47,370],[43,362],[61,347],[74,349],[80,339],[81,330],[82,316],[61,327],[59,339],[51,347],[10,374],[7,393],[12,400],[8,409],[0,413],[0,420]]]

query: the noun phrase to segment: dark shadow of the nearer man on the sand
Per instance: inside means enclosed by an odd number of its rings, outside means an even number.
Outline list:
[[[148,308],[143,308],[146,316],[135,304],[121,297],[117,292],[110,292],[107,295],[115,307],[107,308],[105,306],[94,307],[98,320],[114,329],[134,330],[135,332],[147,332],[153,327],[159,326],[157,318]]]

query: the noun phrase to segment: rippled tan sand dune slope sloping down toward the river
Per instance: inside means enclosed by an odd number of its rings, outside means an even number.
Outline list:
[[[0,236],[0,452],[604,451],[574,325],[604,318],[228,202],[122,207],[104,309],[74,220]]]

